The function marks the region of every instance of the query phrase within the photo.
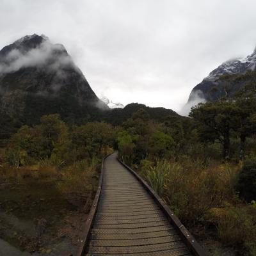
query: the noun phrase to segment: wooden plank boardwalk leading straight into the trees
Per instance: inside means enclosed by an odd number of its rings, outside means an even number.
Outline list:
[[[83,255],[199,254],[189,251],[179,228],[112,154],[104,163],[99,205]]]

